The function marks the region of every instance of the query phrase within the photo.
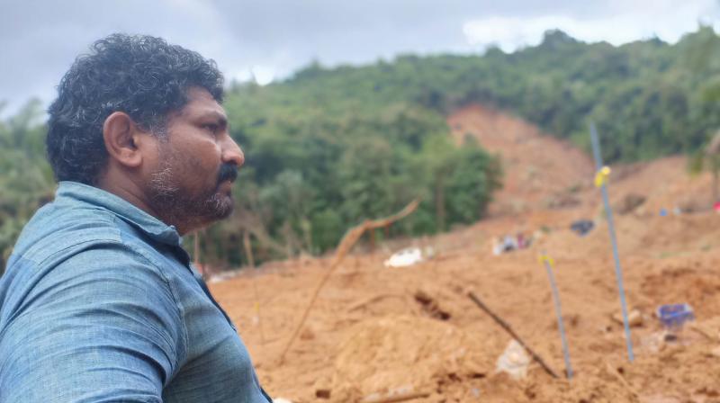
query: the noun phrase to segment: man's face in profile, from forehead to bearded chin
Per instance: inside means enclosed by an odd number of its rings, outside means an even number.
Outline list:
[[[230,215],[231,185],[245,161],[229,136],[222,106],[199,87],[191,87],[187,97],[167,119],[148,183],[152,209],[183,232]]]

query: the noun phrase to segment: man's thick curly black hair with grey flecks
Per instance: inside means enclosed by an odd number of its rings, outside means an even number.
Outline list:
[[[222,102],[223,77],[211,59],[151,36],[112,34],[76,58],[49,107],[48,159],[58,181],[96,184],[107,164],[103,123],[125,112],[163,135],[167,114],[199,86]]]

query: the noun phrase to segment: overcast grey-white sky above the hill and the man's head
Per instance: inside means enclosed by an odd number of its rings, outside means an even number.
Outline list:
[[[720,27],[717,0],[0,0],[0,116],[33,96],[49,103],[76,55],[115,31],[162,36],[214,58],[228,79],[265,84],[313,59],[512,51],[553,28],[674,42],[698,22]]]

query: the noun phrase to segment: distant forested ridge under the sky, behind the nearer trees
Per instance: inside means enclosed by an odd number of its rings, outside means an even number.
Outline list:
[[[265,91],[286,94],[278,103],[338,113],[347,106],[372,110],[394,102],[440,113],[466,103],[491,104],[580,145],[592,119],[604,135],[606,157],[631,161],[691,151],[720,124],[720,38],[705,27],[675,45],[644,40],[614,47],[548,31],[539,46],[511,54],[489,49],[482,57],[401,56],[360,68],[313,65]],[[247,88],[237,94],[251,98]]]

